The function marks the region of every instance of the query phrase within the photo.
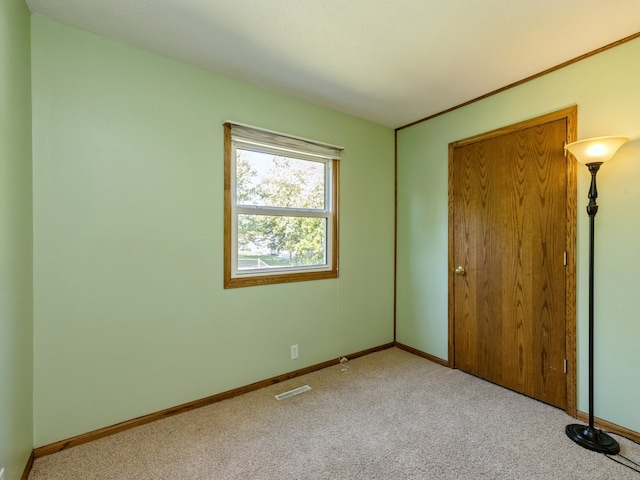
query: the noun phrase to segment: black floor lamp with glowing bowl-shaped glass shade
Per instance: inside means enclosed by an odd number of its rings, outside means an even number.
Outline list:
[[[589,425],[567,425],[565,432],[581,447],[610,455],[620,452],[620,445],[611,436],[593,426],[593,241],[595,217],[598,213],[596,174],[600,166],[610,160],[628,140],[626,137],[597,137],[565,146],[565,149],[571,152],[576,160],[586,165],[591,172],[589,205],[587,205],[589,215]]]

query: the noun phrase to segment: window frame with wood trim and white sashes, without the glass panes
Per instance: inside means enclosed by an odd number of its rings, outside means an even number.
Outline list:
[[[224,288],[336,278],[338,276],[338,159],[341,147],[227,122],[225,129]],[[236,195],[237,150],[324,164],[324,209],[241,205]],[[318,265],[238,268],[238,216],[324,218],[325,262]]]

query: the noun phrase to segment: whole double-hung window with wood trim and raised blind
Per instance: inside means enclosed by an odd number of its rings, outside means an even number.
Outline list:
[[[338,276],[340,147],[226,123],[224,287]]]

